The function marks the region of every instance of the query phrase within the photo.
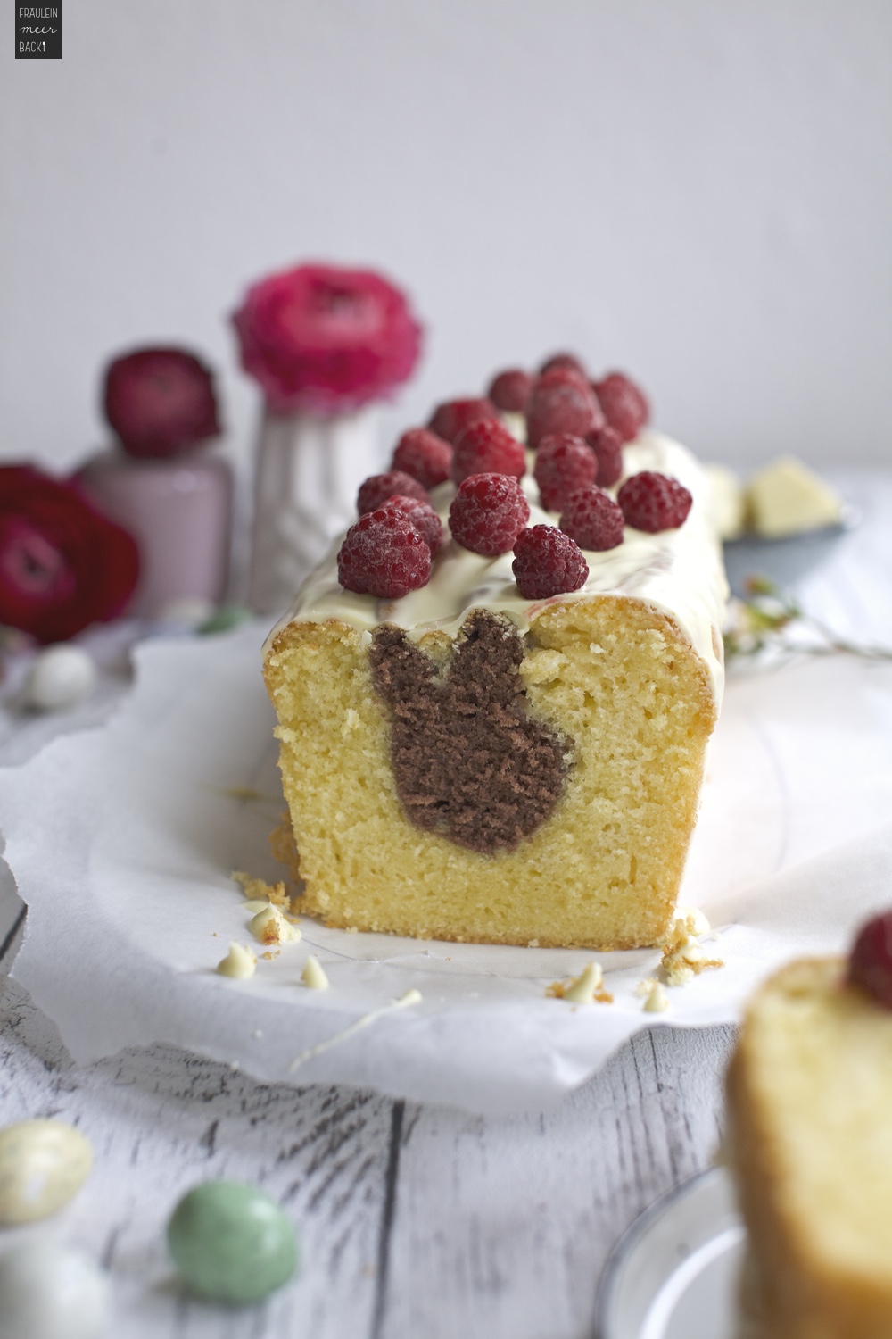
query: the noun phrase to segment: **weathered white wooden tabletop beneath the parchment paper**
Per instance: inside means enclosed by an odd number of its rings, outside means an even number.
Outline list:
[[[847,636],[892,644],[892,474],[840,473],[864,524],[800,586]],[[102,719],[114,675],[68,718],[23,718],[0,694],[0,763]],[[5,869],[4,869],[5,872]],[[21,905],[0,882],[1,969]],[[639,1034],[551,1115],[484,1119],[346,1089],[253,1082],[169,1048],[78,1069],[5,980],[0,1125],[60,1117],[96,1169],[51,1224],[110,1268],[122,1339],[591,1339],[598,1277],[627,1224],[703,1168],[721,1131],[732,1028]],[[262,1307],[186,1297],[163,1231],[207,1177],[262,1185],[302,1237],[300,1279]]]

